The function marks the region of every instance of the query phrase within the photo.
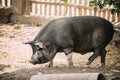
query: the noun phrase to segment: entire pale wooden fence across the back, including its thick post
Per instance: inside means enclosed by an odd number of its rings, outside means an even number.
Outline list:
[[[95,13],[93,7],[89,6],[89,1],[68,0],[68,3],[65,4],[61,0],[0,0],[0,8],[12,6],[14,13],[23,14],[25,12],[32,16],[63,17],[92,15],[106,18],[111,22],[120,21],[120,14],[119,16],[111,14],[109,6]]]

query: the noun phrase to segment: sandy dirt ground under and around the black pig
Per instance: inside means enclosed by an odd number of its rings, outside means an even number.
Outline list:
[[[0,80],[29,80],[32,75],[39,73],[102,73],[107,80],[120,80],[120,48],[109,44],[107,46],[106,67],[99,67],[100,58],[87,66],[86,61],[92,53],[81,55],[74,53],[74,67],[68,66],[64,53],[57,53],[53,67],[48,63],[32,65],[29,63],[32,50],[23,44],[33,40],[41,25],[0,24]],[[119,37],[117,37],[119,38]],[[114,40],[116,37],[114,37]],[[114,42],[114,41],[113,41]],[[113,79],[116,78],[116,79]]]

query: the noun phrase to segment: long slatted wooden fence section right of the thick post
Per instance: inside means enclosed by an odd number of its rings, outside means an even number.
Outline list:
[[[68,0],[65,4],[61,0],[30,0],[30,14],[35,16],[100,16],[109,21],[118,21],[117,14],[111,14],[107,6],[96,13],[89,6],[90,0]]]

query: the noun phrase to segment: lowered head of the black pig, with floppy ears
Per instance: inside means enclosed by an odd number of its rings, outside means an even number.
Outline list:
[[[56,48],[50,44],[43,44],[42,42],[27,42],[30,44],[33,54],[30,62],[32,64],[42,64],[53,59],[56,54]]]

